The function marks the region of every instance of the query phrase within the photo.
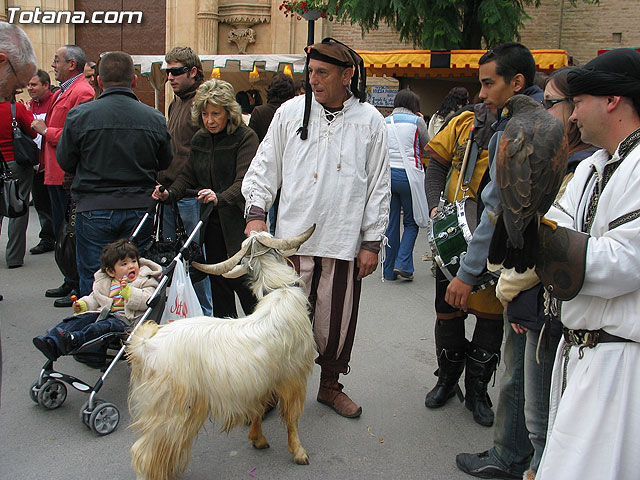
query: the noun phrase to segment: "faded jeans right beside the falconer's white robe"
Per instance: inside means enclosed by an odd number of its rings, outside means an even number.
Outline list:
[[[547,423],[549,420],[549,393],[551,373],[555,361],[560,335],[547,330],[540,345],[540,364],[536,361],[536,347],[540,332],[529,330],[526,333],[527,346],[524,355],[524,416],[529,430],[529,440],[533,445],[533,457],[529,468],[538,471],[542,452],[547,441]]]

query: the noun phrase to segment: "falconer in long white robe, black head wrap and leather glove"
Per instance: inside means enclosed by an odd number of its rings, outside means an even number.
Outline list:
[[[559,227],[542,233],[540,277],[557,295],[562,292],[561,298],[575,297],[562,304],[566,328],[556,355],[549,435],[537,479],[636,479],[640,52],[609,51],[568,79],[575,103],[570,120],[582,141],[602,150],[578,166],[549,211],[547,217]],[[555,268],[558,282],[549,281],[545,264]]]

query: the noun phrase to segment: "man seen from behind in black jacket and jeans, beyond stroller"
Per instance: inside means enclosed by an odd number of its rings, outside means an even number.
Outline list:
[[[57,149],[62,169],[75,174],[80,295],[91,292],[102,248],[131,235],[142,219],[153,202],[158,171],[173,158],[164,116],[132,91],[137,77],[131,56],[108,53],[98,69],[102,94],[69,112]],[[138,243],[151,229],[149,222]]]

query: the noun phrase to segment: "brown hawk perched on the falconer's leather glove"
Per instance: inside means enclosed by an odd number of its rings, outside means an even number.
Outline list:
[[[564,124],[526,95],[506,101],[510,116],[496,155],[500,205],[489,213],[495,231],[490,264],[523,273],[535,266],[540,219],[549,210],[567,170]]]

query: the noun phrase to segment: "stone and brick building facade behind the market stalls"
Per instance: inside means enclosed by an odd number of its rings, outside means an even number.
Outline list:
[[[48,11],[139,10],[141,24],[49,24],[21,26],[32,39],[40,67],[52,73],[51,59],[58,46],[78,44],[90,59],[101,52],[124,50],[134,55],[163,55],[177,45],[189,45],[200,54],[302,53],[307,43],[307,22],[285,17],[281,0],[0,0],[0,19],[6,20],[9,7]],[[576,64],[593,58],[599,49],[640,46],[638,0],[600,0],[592,5],[577,0],[542,0],[530,8],[521,41],[531,49],[561,48]],[[407,50],[398,34],[382,24],[364,37],[358,25],[318,20],[315,41],[326,36],[361,50]],[[207,72],[208,73],[208,72]],[[473,78],[446,80],[401,79],[423,97],[425,113],[437,107],[449,88],[462,84],[473,95]],[[153,105],[153,88],[140,82],[136,93]],[[172,95],[170,89],[164,94]],[[164,95],[161,109],[165,105]]]

